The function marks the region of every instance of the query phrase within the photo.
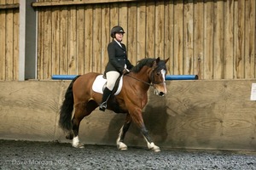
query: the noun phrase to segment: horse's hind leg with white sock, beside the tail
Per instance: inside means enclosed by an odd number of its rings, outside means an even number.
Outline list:
[[[84,148],[84,144],[79,141],[79,126],[80,122],[83,120],[84,116],[90,115],[92,111],[96,109],[98,105],[95,101],[90,100],[87,104],[80,103],[75,106],[75,113],[73,116],[73,147]]]

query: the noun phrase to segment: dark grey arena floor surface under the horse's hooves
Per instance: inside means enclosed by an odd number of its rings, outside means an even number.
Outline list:
[[[255,152],[117,150],[115,146],[0,140],[0,169],[256,169]]]

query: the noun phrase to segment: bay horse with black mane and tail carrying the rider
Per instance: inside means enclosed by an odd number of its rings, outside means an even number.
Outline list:
[[[123,87],[118,95],[108,99],[107,109],[115,113],[125,113],[125,123],[119,130],[116,141],[119,150],[127,150],[124,143],[125,133],[134,122],[143,133],[148,149],[155,152],[160,147],[154,144],[143,122],[143,107],[148,102],[148,89],[154,88],[154,94],[166,94],[166,62],[169,59],[141,59],[129,74],[123,77]],[[59,126],[67,132],[67,139],[73,139],[73,147],[84,148],[79,142],[79,125],[84,116],[89,116],[102,101],[102,94],[92,90],[92,84],[100,73],[90,72],[75,77],[67,88],[61,105]],[[73,114],[73,108],[75,109]],[[73,118],[72,118],[73,115]]]

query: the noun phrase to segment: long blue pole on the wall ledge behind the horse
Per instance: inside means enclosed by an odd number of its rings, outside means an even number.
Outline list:
[[[52,75],[54,80],[73,80],[77,75]],[[166,80],[198,80],[197,75],[166,75]]]

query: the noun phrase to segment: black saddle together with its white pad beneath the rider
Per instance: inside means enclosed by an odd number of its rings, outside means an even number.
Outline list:
[[[96,93],[103,94],[104,88],[106,88],[107,79],[103,75],[96,77],[95,81],[92,84],[92,90]],[[123,87],[123,75],[120,76],[115,82],[112,94],[118,95]]]

